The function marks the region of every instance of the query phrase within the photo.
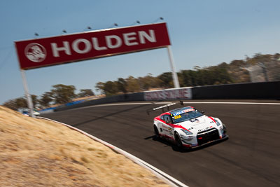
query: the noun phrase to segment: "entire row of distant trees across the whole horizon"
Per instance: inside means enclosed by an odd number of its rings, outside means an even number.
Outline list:
[[[253,57],[246,56],[245,60],[232,60],[229,64],[222,62],[217,66],[211,67],[194,67],[190,70],[181,70],[177,72],[181,87],[198,86],[198,85],[219,85],[228,83],[247,83],[250,82],[249,72],[246,69],[258,63],[275,63],[279,62],[280,54],[262,55],[255,54]],[[280,67],[279,67],[280,69]],[[165,72],[159,76],[148,74],[144,77],[118,78],[117,81],[99,82],[95,85],[97,91],[106,96],[125,94],[128,92],[141,92],[154,88],[174,88],[172,73]],[[78,97],[94,95],[91,89],[80,90],[75,93],[76,88],[73,85],[52,85],[52,90],[44,92],[40,97],[31,95],[34,106],[45,108],[50,104],[65,104]],[[25,97],[10,99],[3,104],[10,109],[18,110],[27,108]]]

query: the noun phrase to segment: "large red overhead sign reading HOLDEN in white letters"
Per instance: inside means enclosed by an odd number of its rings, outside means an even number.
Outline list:
[[[34,69],[170,45],[166,23],[15,41],[21,69]]]

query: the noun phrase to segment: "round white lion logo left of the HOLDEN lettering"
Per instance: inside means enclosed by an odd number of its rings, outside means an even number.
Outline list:
[[[42,62],[46,55],[45,48],[38,43],[29,43],[25,48],[25,56],[32,62]]]

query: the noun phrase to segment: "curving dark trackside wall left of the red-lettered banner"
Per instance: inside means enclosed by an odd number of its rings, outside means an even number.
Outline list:
[[[68,109],[76,109],[78,107],[83,106],[91,106],[96,104],[106,104],[106,103],[113,103],[113,102],[138,102],[138,101],[144,101],[144,93],[132,93],[132,94],[125,94],[125,95],[114,95],[111,97],[104,97],[101,99],[95,99],[90,101],[81,102],[78,104],[73,104],[70,106],[59,106],[55,111],[64,111]]]

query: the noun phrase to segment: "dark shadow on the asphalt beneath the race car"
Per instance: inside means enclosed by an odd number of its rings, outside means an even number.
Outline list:
[[[172,141],[169,141],[167,139],[157,138],[155,135],[153,135],[151,137],[146,137],[144,139],[145,140],[152,139],[153,141],[159,141],[160,143],[165,144],[166,146],[170,146],[172,148],[172,150],[176,151],[176,152],[190,153],[190,152],[194,152],[194,151],[200,151],[201,149],[208,148],[208,147],[214,146],[216,144],[220,144],[223,141],[227,141],[229,138],[221,139],[220,141],[214,141],[214,142],[211,142],[209,144],[205,144],[205,145],[197,147],[197,148],[179,148]]]

